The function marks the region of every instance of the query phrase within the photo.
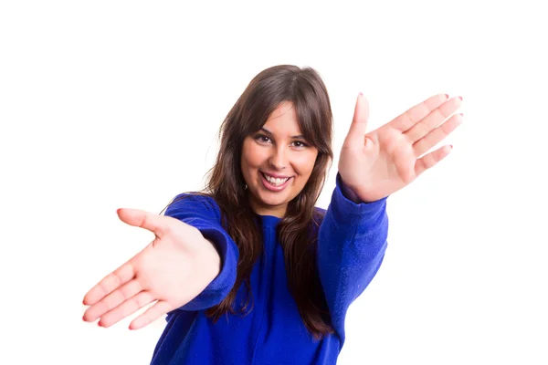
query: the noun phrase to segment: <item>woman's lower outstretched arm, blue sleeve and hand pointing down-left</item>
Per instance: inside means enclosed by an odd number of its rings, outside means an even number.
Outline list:
[[[153,241],[92,287],[83,320],[111,327],[148,304],[131,329],[175,310],[220,303],[236,282],[237,246],[220,224],[215,201],[189,196],[170,204],[166,216],[119,209],[122,222],[154,234]]]

